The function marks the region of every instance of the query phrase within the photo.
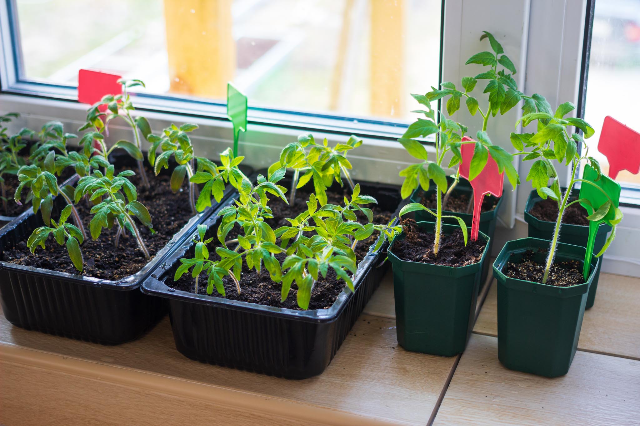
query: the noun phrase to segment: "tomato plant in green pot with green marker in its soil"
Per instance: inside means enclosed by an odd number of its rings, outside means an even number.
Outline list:
[[[601,221],[615,227],[622,218],[618,209],[620,185],[600,174],[583,137],[570,132],[570,126],[575,126],[584,137],[593,135],[593,128],[584,120],[567,117],[575,109],[572,103],[563,103],[553,111],[536,95],[535,107],[536,111],[522,117],[522,124],[536,121],[537,132],[512,133],[511,141],[516,154],[532,162],[527,180],[538,195],[556,202],[557,220],[550,241],[531,237],[508,241],[493,265],[498,282],[498,357],[509,369],[556,377],[570,369],[599,263],[592,257],[593,244],[587,244],[586,238],[580,245],[587,248],[559,241],[562,218],[569,206],[579,203],[590,212],[594,234]],[[578,178],[582,161],[588,164],[584,177]],[[570,167],[569,185],[564,189],[559,183],[558,164]],[[578,182],[580,196],[572,201],[572,188]],[[613,236],[614,232],[597,255]]]

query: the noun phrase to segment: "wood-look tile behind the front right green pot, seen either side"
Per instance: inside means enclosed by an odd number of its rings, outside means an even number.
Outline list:
[[[596,301],[584,312],[578,349],[640,360],[640,280],[602,273]],[[495,280],[476,321],[476,333],[497,336]]]

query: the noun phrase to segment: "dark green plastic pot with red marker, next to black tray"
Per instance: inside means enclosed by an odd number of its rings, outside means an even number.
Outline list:
[[[433,232],[435,223],[418,222],[418,226]],[[459,228],[442,225],[442,232],[451,234]],[[403,238],[404,234],[400,234],[394,243]],[[482,232],[479,238],[490,241]],[[388,258],[394,271],[398,343],[408,351],[433,355],[462,353],[474,326],[481,266],[488,257],[488,244],[480,262],[461,268],[403,261],[394,254],[393,246]]]

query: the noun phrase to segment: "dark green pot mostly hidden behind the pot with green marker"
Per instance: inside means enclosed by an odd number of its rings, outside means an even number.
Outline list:
[[[566,188],[561,188],[563,194],[566,191]],[[548,222],[547,220],[540,220],[536,217],[533,217],[529,211],[536,205],[536,202],[541,201],[542,198],[538,195],[536,190],[532,190],[531,194],[529,194],[529,199],[527,199],[527,206],[524,209],[524,220],[529,224],[529,236],[533,238],[540,238],[541,240],[551,241],[554,236],[554,231],[556,229],[556,222]],[[611,231],[611,226],[607,224],[600,224],[598,227],[598,233],[596,234],[595,244],[593,245],[593,253],[598,254],[600,249],[604,246],[605,241],[607,241],[607,234]],[[578,245],[580,247],[585,247],[587,245],[587,240],[589,239],[589,227],[584,225],[570,225],[563,224],[560,228],[560,237],[558,241],[566,244]],[[598,262],[598,269],[596,270],[596,275],[593,278],[593,282],[591,283],[591,287],[589,287],[589,295],[587,297],[587,305],[586,308],[589,309],[593,306],[593,303],[596,299],[596,290],[598,289],[598,278],[600,278],[600,268],[602,267],[602,262]]]

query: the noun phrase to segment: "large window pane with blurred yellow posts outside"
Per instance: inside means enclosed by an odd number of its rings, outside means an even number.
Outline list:
[[[16,0],[21,79],[79,68],[150,93],[408,121],[438,81],[440,0]]]

